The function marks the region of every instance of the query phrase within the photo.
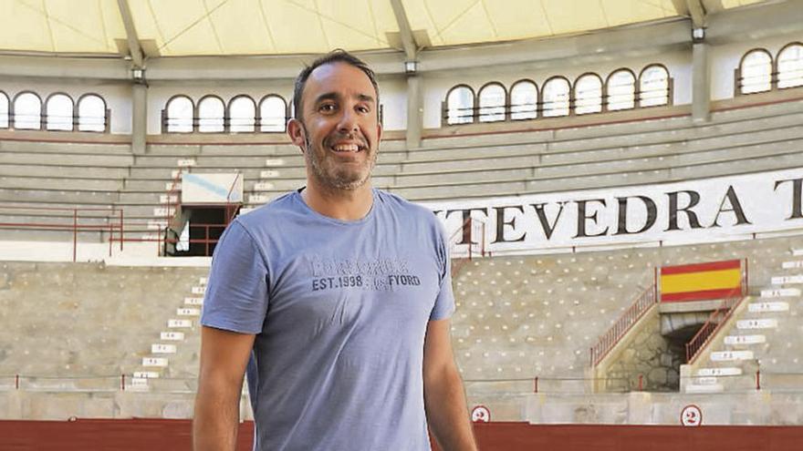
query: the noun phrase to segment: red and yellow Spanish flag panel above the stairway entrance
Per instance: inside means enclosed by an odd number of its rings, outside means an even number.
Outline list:
[[[741,293],[741,260],[661,268],[661,302],[724,299]]]

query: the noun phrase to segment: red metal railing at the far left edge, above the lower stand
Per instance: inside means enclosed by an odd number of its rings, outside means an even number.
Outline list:
[[[49,216],[65,220],[64,223],[52,222],[0,222],[0,229],[14,230],[47,230],[47,231],[72,231],[72,261],[78,260],[78,232],[81,231],[108,231],[109,232],[109,256],[111,256],[113,241],[120,241],[120,251],[122,251],[123,223],[125,221],[123,210],[118,208],[58,208],[58,207],[23,207],[23,206],[2,206],[2,210],[19,211],[52,211],[63,212],[64,215]],[[105,215],[97,215],[89,212],[103,212]],[[69,214],[72,213],[72,214]],[[87,213],[87,214],[82,214]],[[80,220],[102,219],[107,220],[107,224],[81,224]],[[67,222],[69,221],[69,222]],[[115,234],[120,233],[120,239],[115,240]]]

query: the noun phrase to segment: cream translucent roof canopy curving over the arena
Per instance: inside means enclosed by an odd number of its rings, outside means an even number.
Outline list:
[[[713,13],[755,3],[761,1],[0,0],[0,53],[126,56],[130,33],[149,57],[402,50],[405,33],[417,48],[464,46],[677,18],[691,15],[690,5]]]

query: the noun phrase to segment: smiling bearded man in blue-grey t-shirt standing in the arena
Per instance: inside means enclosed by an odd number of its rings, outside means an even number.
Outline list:
[[[214,252],[195,450],[235,449],[246,363],[257,450],[421,451],[427,425],[444,450],[474,450],[440,224],[371,188],[373,72],[335,51],[294,94],[307,186],[237,218]]]

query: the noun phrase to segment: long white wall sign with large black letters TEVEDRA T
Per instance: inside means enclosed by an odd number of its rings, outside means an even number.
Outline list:
[[[556,181],[556,189],[560,181]],[[803,168],[682,182],[427,202],[450,233],[485,221],[495,254],[662,241],[740,240],[803,228]],[[465,249],[468,234],[455,251]],[[479,242],[480,237],[471,237]]]

